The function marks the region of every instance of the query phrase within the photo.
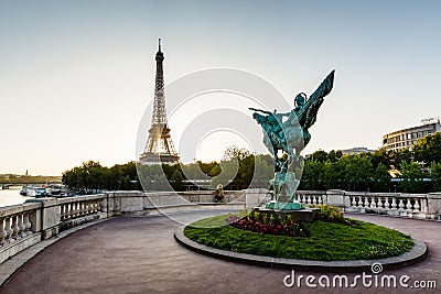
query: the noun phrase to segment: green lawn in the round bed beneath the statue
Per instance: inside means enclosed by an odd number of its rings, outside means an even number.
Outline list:
[[[240,253],[304,260],[369,260],[400,255],[412,248],[410,236],[351,219],[352,226],[305,222],[310,237],[261,235],[227,226],[227,216],[197,220],[185,227],[193,241]]]

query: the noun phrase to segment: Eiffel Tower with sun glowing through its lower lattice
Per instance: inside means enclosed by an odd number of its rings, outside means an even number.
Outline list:
[[[141,164],[174,164],[179,162],[180,156],[174,149],[170,128],[166,123],[165,96],[164,96],[164,74],[162,62],[164,54],[161,52],[161,39],[159,40],[159,50],[157,52],[157,77],[154,86],[154,101],[152,121],[149,130],[143,152],[139,155]]]

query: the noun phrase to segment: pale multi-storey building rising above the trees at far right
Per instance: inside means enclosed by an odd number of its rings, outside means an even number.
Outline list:
[[[418,139],[428,134],[441,132],[439,118],[424,119],[422,126],[395,131],[383,137],[383,148],[387,151],[396,151],[402,148],[412,150]]]

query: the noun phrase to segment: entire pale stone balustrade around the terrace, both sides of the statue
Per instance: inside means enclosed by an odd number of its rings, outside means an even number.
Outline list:
[[[225,193],[213,203],[212,192],[109,192],[66,198],[32,199],[0,208],[0,263],[18,252],[82,224],[120,215],[169,214],[200,209],[251,209],[272,199],[267,189]],[[440,219],[441,193],[394,194],[344,190],[299,190],[306,205],[327,204],[348,213],[377,213]]]

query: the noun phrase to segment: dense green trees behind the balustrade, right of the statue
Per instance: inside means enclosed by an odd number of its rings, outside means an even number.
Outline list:
[[[391,175],[396,176],[394,178]],[[427,193],[441,190],[441,134],[427,135],[412,150],[343,155],[316,151],[304,162],[302,189]]]

